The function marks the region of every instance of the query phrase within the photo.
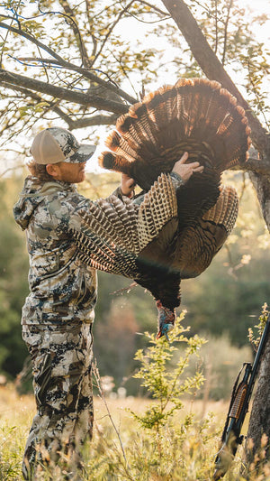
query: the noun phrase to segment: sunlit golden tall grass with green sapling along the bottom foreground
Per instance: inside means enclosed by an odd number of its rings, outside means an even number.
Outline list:
[[[188,338],[186,330],[178,320],[170,344],[148,335],[148,348],[137,353],[137,377],[149,399],[104,398],[96,371],[100,394],[94,399],[94,439],[84,446],[81,481],[211,480],[228,403],[209,402],[202,417],[202,401],[195,397],[202,374],[187,376],[185,370],[204,341]],[[179,344],[184,350],[177,349]],[[22,480],[23,449],[34,412],[31,395],[20,396],[14,385],[0,389],[0,481]],[[239,475],[241,458],[240,447],[224,480],[245,481]],[[47,479],[60,481],[63,476],[54,468],[51,475],[37,477]],[[270,467],[254,469],[248,480],[270,480]]]

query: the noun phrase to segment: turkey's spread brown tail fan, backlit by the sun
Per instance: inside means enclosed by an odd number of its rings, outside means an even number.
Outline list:
[[[124,171],[148,190],[161,171],[171,171],[187,151],[206,170],[221,171],[247,159],[249,133],[244,110],[220,84],[180,79],[159,88],[119,117],[102,153],[101,166]],[[108,162],[109,161],[109,162]]]

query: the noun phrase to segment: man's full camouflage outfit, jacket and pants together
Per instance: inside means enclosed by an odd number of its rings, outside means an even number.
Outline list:
[[[76,187],[25,180],[14,218],[26,231],[30,294],[23,306],[23,340],[29,349],[38,413],[23,457],[23,477],[68,459],[80,465],[79,447],[92,436],[92,323],[96,273],[76,257],[67,235],[79,228],[77,210],[91,200]],[[48,468],[46,467],[46,469]]]

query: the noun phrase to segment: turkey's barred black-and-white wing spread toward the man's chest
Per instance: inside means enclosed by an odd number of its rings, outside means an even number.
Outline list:
[[[68,232],[79,258],[95,269],[136,280],[140,251],[177,216],[173,180],[161,174],[140,206],[112,195],[93,202],[87,213],[79,209],[76,213],[78,222]]]

